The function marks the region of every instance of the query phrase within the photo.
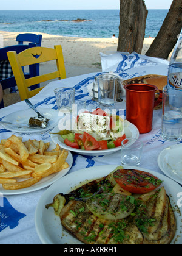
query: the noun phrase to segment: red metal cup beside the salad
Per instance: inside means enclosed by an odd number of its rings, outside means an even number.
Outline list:
[[[126,119],[134,124],[140,134],[151,132],[155,92],[158,88],[149,84],[128,84],[126,89]]]

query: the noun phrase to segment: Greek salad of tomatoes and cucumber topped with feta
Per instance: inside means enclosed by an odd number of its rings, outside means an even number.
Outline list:
[[[59,135],[67,146],[86,151],[116,148],[126,139],[124,120],[108,115],[101,108],[80,113],[73,130],[61,130]]]

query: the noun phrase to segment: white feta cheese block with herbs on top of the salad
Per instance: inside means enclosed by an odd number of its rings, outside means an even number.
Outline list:
[[[74,132],[87,132],[96,140],[104,140],[110,133],[110,117],[81,113],[75,124]]]

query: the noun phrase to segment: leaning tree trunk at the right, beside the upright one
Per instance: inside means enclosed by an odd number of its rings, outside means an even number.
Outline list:
[[[174,0],[157,37],[146,55],[167,59],[177,43],[177,36],[181,32],[181,27],[182,0]]]

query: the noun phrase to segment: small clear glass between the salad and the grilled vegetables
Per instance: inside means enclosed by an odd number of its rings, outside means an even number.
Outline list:
[[[138,166],[141,161],[143,143],[134,138],[127,138],[121,143],[121,163]]]

